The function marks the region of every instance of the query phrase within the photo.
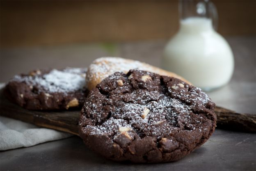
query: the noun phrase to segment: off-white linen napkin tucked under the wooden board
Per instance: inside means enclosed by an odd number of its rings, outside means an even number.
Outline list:
[[[0,89],[4,84],[0,84]],[[0,150],[29,147],[73,135],[0,116]]]

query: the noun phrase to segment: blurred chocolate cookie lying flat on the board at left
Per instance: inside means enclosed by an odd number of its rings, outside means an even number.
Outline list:
[[[31,110],[57,110],[81,107],[88,94],[86,68],[35,70],[15,75],[5,87],[11,101]]]

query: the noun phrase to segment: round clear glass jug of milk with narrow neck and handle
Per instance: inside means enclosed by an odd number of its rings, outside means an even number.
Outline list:
[[[208,0],[180,0],[180,29],[165,47],[162,68],[209,91],[229,82],[234,59],[227,41],[214,29],[217,10]]]

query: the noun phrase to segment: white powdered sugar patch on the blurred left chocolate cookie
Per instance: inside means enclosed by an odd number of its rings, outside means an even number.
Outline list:
[[[49,73],[41,75],[16,75],[11,81],[26,82],[32,86],[49,92],[67,93],[83,89],[85,86],[85,69],[65,68],[64,70],[53,69]]]

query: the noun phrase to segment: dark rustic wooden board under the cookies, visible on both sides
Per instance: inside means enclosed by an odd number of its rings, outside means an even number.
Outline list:
[[[217,128],[256,132],[256,115],[239,114],[229,109],[215,107]],[[32,123],[34,125],[78,135],[79,110],[42,112],[27,110],[11,103],[0,91],[0,115]]]

